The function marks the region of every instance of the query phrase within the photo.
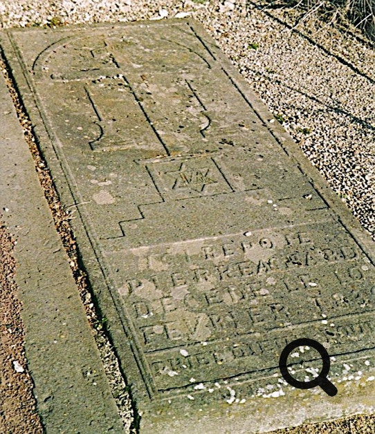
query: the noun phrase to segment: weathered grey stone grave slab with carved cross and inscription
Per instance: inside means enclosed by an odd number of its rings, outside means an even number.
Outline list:
[[[77,210],[141,433],[374,411],[374,243],[198,23],[8,30],[1,46]],[[282,379],[298,338],[329,352],[335,397]],[[318,363],[303,351],[302,381]]]

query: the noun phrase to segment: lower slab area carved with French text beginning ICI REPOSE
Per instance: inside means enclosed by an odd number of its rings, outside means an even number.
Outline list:
[[[338,223],[107,258],[127,277],[119,292],[161,389],[274,367],[295,333],[314,330],[333,353],[363,350],[348,341],[346,317],[375,309],[374,266]]]

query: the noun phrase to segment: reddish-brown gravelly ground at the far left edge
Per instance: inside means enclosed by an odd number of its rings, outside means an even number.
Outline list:
[[[14,242],[0,224],[0,433],[39,434],[42,425],[36,412],[33,381],[27,371],[21,303],[13,281]],[[17,362],[17,363],[15,363]],[[17,370],[24,369],[24,372]]]

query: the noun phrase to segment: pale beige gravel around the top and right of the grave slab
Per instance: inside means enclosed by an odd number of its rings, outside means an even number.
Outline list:
[[[277,1],[273,8],[269,5],[239,0],[0,0],[0,17],[4,28],[187,16],[201,21],[375,239],[374,47],[353,29],[334,29],[315,19],[302,19],[295,27],[303,11],[286,10]],[[363,416],[284,432],[374,431],[374,418]]]

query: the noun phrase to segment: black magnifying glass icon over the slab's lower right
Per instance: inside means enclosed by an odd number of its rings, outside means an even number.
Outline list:
[[[315,348],[320,354],[320,357],[322,357],[323,361],[323,367],[320,371],[320,374],[318,377],[315,377],[311,381],[298,381],[294,377],[289,374],[289,370],[286,368],[286,360],[288,359],[289,354],[295,349],[300,346],[309,346],[312,348]],[[324,390],[325,393],[329,396],[335,396],[338,392],[336,386],[327,379],[327,375],[329,372],[329,367],[331,366],[331,362],[329,361],[329,354],[327,350],[322,346],[321,343],[318,341],[315,341],[314,339],[309,338],[301,338],[301,339],[295,339],[295,341],[292,341],[291,343],[288,343],[288,345],[282,350],[282,353],[280,355],[279,360],[279,367],[280,372],[282,373],[282,376],[284,377],[285,381],[287,381],[291,386],[299,389],[311,389],[313,387],[319,386]]]

